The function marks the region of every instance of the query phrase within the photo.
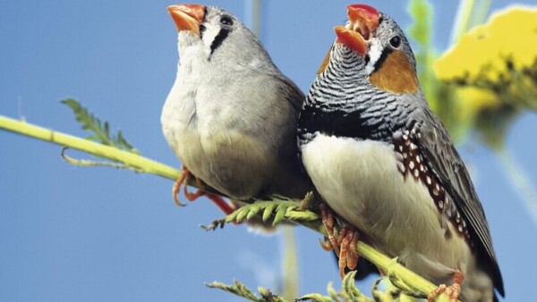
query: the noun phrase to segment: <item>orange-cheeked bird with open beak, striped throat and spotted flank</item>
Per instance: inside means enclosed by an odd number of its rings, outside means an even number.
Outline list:
[[[405,33],[369,5],[348,5],[347,16],[299,116],[316,193],[360,239],[441,284],[429,300],[504,297],[482,204],[423,96]]]

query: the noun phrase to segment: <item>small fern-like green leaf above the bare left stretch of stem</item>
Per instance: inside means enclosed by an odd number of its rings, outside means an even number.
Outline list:
[[[86,139],[140,155],[140,152],[132,147],[132,145],[124,138],[121,130],[117,132],[116,136],[111,136],[110,124],[108,122],[104,122],[103,124],[95,115],[93,115],[93,113],[90,113],[88,109],[82,106],[78,101],[73,98],[66,98],[61,102],[72,109],[76,121],[81,123],[82,130],[87,130],[92,133],[92,135]]]

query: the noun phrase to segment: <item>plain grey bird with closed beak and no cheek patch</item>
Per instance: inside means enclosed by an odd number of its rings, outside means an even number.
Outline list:
[[[179,36],[177,78],[162,110],[170,147],[187,172],[237,200],[311,189],[297,158],[303,93],[249,29],[221,8],[168,7]],[[174,186],[174,198],[183,178]],[[189,200],[206,192],[191,194]],[[226,214],[234,210],[208,196]],[[191,200],[192,201],[192,200]]]

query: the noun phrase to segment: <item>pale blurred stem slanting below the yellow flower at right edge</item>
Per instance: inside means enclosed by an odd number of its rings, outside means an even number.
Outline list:
[[[511,182],[513,188],[519,194],[524,201],[524,205],[529,210],[530,215],[533,218],[533,222],[537,222],[537,192],[520,164],[518,164],[507,150],[507,147],[500,147],[494,149],[496,155],[498,155],[499,162],[503,169],[507,172],[507,180]]]

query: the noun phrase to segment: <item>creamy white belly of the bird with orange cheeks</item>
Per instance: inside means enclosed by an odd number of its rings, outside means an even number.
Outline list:
[[[388,144],[318,135],[302,147],[303,164],[328,205],[367,235],[371,244],[416,273],[449,281],[470,250],[445,227],[426,187],[397,170]],[[443,223],[442,223],[443,222]]]

